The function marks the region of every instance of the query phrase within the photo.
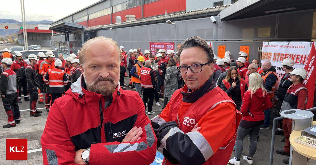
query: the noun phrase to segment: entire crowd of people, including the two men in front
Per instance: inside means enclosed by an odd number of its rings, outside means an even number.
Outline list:
[[[41,139],[44,164],[150,164],[158,149],[165,164],[239,165],[248,134],[249,152],[243,160],[252,164],[259,130],[270,128],[278,85],[275,68],[269,61],[261,67],[258,59],[249,63],[242,51],[236,62],[229,51],[219,58],[197,36],[186,39],[176,53],[156,49],[155,54],[149,50],[143,54],[140,48],[127,53],[112,39],[96,37],[83,44],[80,62],[75,54],[55,60],[51,51],[29,55],[28,65],[20,53],[16,56],[14,62],[9,57],[1,61],[1,95],[8,115],[3,127],[20,122],[21,86],[24,99],[27,91],[31,96],[30,116],[40,116],[37,94],[43,103],[45,89],[46,110],[51,112]],[[308,91],[302,83],[306,70],[293,68],[290,58],[282,65],[278,113],[306,109]],[[128,86],[137,93],[124,90],[126,70]],[[162,112],[150,121],[145,114],[155,114],[153,101],[161,106],[160,97],[164,97]],[[276,150],[278,154],[289,155],[291,123],[279,121],[277,133],[284,134],[286,144]],[[229,160],[232,150],[235,156]]]

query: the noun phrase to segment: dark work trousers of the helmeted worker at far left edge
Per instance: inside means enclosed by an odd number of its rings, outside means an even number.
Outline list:
[[[8,124],[15,125],[15,120],[20,120],[20,108],[18,105],[17,93],[6,94],[2,97],[5,112],[8,115]]]

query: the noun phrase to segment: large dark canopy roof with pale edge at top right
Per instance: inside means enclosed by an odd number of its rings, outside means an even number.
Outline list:
[[[221,21],[315,9],[315,0],[239,0],[220,12]]]

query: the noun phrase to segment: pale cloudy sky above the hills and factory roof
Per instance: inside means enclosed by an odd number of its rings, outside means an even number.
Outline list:
[[[24,0],[26,21],[57,21],[100,0]],[[20,0],[0,0],[0,19],[22,21]]]

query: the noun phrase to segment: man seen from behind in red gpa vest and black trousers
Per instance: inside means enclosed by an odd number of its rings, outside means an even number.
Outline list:
[[[153,111],[154,95],[156,88],[156,76],[154,69],[151,68],[151,61],[146,60],[145,66],[140,69],[140,86],[143,88],[143,102],[146,108],[148,101],[148,114],[155,114]]]

